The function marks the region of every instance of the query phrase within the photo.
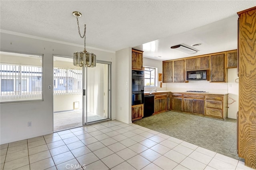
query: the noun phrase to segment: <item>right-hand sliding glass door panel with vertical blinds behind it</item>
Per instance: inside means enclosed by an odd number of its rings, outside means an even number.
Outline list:
[[[111,63],[97,61],[96,67],[84,68],[83,125],[110,119]]]

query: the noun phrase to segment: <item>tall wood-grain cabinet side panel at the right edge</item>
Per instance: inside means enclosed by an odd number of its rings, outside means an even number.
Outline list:
[[[238,16],[238,156],[256,169],[256,6]]]

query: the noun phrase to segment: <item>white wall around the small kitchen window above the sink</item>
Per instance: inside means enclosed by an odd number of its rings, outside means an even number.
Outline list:
[[[157,90],[166,90],[166,84],[162,84],[162,88],[160,88],[160,82],[158,81],[158,73],[162,73],[162,61],[159,60],[153,60],[153,59],[148,59],[148,58],[143,58],[143,66],[149,66],[149,67],[154,67],[157,68],[157,72],[156,72],[156,79],[157,79],[157,87],[145,87],[144,91],[150,91],[151,89],[156,88]]]

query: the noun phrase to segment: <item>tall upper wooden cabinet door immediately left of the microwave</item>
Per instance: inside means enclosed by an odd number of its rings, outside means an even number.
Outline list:
[[[174,79],[173,82],[185,82],[184,79],[184,60],[174,61]]]

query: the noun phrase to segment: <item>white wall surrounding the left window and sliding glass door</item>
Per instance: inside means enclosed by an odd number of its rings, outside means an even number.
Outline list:
[[[73,56],[83,46],[67,45],[46,40],[1,33],[1,50],[43,54],[43,101],[0,105],[0,143],[9,143],[53,132],[53,55]],[[81,42],[82,43],[82,42]],[[97,55],[97,60],[112,62],[112,119],[115,119],[116,103],[116,58],[115,53],[88,49]],[[131,51],[131,50],[130,50]],[[131,59],[130,59],[131,60]],[[125,63],[127,64],[127,63]],[[124,64],[124,65],[125,65]],[[32,127],[28,127],[32,121]]]

